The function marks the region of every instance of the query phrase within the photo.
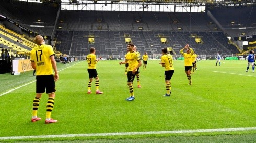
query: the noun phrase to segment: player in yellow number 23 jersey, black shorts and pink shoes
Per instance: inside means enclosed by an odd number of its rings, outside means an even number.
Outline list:
[[[98,77],[98,73],[96,70],[96,64],[99,61],[99,59],[96,58],[95,55],[95,48],[90,48],[90,54],[88,54],[86,56],[86,60],[87,60],[87,64],[88,64],[88,73],[89,73],[89,83],[88,83],[88,94],[91,93],[91,83],[92,80],[94,80],[95,78],[95,86],[96,86],[96,94],[103,94],[103,92],[101,92],[99,90],[99,77]]]

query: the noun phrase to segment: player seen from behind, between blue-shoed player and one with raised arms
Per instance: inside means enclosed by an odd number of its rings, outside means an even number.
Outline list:
[[[166,94],[164,96],[170,96],[171,94],[171,77],[174,73],[174,67],[173,67],[173,58],[171,54],[167,53],[167,48],[162,49],[162,57],[161,62],[159,64],[162,65],[162,67],[165,67],[165,87],[166,87]]]

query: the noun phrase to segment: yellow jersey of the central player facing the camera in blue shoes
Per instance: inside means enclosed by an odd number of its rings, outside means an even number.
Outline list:
[[[125,60],[128,61],[128,70],[127,71],[132,71],[134,68],[137,67],[138,65],[138,60],[141,60],[139,58],[139,55],[134,51],[133,53],[127,53]]]

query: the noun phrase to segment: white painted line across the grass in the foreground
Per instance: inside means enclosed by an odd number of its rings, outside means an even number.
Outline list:
[[[203,133],[203,132],[252,131],[252,130],[256,130],[256,127],[194,129],[194,130],[174,130],[174,131],[149,131],[149,132],[95,133],[95,134],[66,134],[66,135],[44,135],[44,136],[13,136],[13,137],[0,137],[0,140],[4,140],[4,139],[37,139],[37,138],[64,138],[64,137],[119,136],[119,135]]]

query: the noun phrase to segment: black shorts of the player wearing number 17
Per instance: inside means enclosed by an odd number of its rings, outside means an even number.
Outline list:
[[[55,81],[53,75],[37,75],[36,77],[36,93],[44,93],[46,89],[46,94],[56,92]]]

